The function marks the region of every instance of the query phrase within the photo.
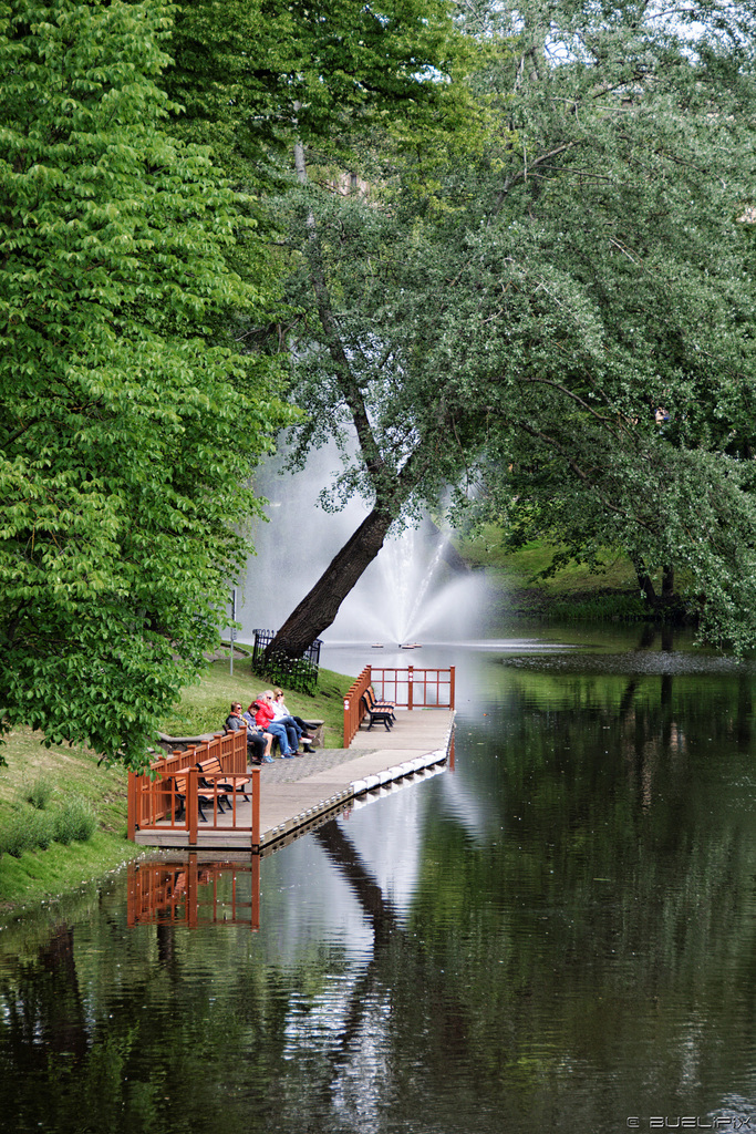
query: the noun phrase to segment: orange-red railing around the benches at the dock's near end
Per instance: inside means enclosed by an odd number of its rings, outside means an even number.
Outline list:
[[[197,763],[213,756],[220,760],[222,772],[201,772]],[[229,793],[219,786],[220,780],[238,790]],[[239,815],[243,795],[252,802],[244,820]],[[203,830],[248,830],[250,847],[260,846],[260,769],[247,772],[244,729],[228,736],[216,733],[211,741],[176,750],[155,760],[142,776],[129,772],[128,837],[134,840],[137,830],[187,831],[188,841],[196,843],[201,803],[207,820]]]

